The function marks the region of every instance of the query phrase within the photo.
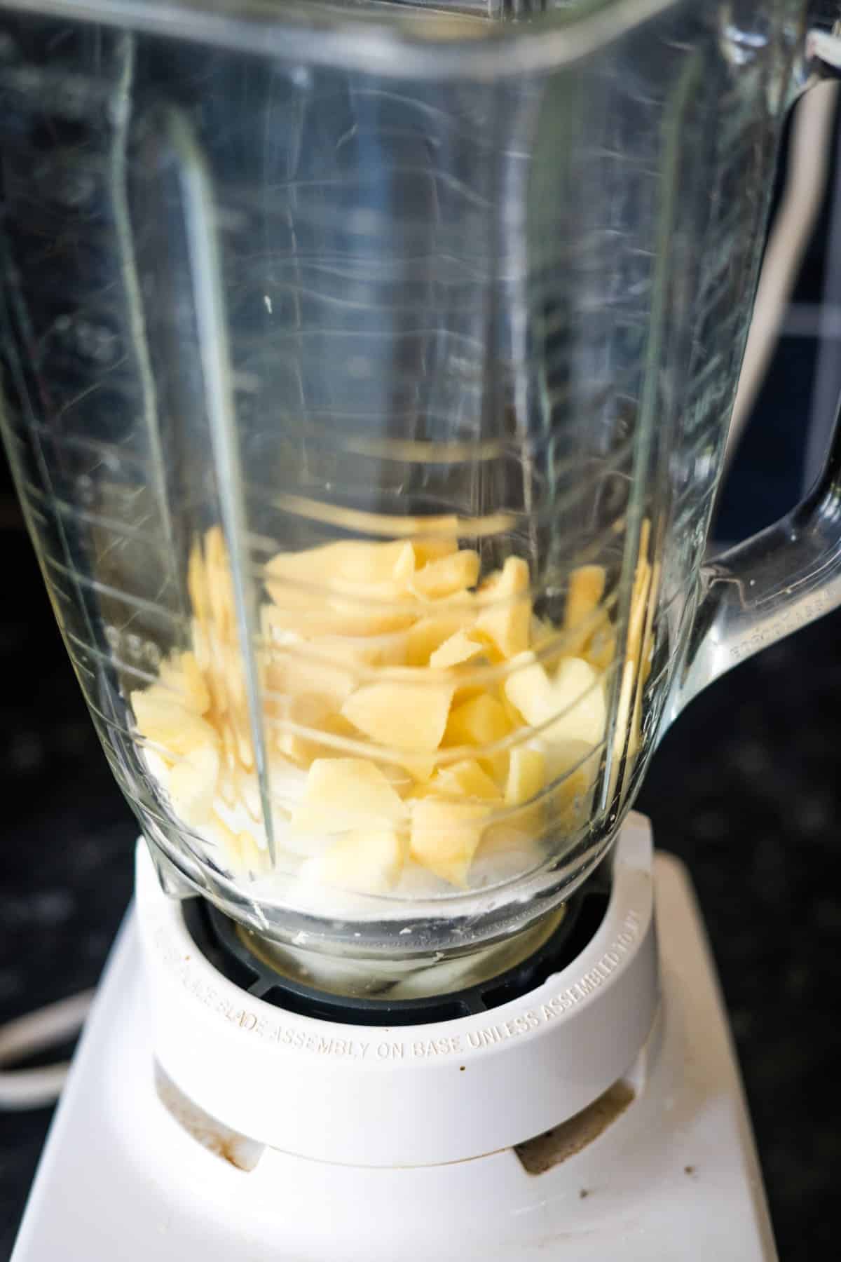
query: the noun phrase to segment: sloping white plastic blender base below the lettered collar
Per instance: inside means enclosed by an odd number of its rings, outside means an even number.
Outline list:
[[[635,1098],[538,1175],[511,1148],[410,1169],[265,1148],[250,1171],[208,1151],[155,1090],[132,914],[11,1262],[773,1262],[712,962],[686,873],[666,854],[654,899],[662,1007],[625,1074]]]

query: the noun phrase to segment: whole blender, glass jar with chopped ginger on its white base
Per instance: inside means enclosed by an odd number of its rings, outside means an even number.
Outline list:
[[[821,6],[817,6],[821,10]],[[835,5],[4,0],[3,434],[142,839],[15,1262],[774,1257],[630,813]]]

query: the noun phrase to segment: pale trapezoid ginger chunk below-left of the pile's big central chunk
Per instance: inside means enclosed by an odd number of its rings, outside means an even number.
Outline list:
[[[406,805],[380,767],[367,758],[315,758],[291,827],[303,833],[345,833],[395,825]]]

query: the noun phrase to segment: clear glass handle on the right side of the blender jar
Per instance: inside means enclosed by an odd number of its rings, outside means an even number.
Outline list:
[[[841,3],[825,0],[812,13],[820,25],[806,37],[801,91],[821,78],[841,78]],[[806,500],[701,568],[699,606],[664,727],[719,675],[838,604],[841,413],[823,472]]]

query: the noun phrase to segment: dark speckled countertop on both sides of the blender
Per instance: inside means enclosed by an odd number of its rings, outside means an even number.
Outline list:
[[[135,825],[8,500],[0,539],[3,1022],[96,982],[130,897]],[[835,1256],[841,1229],[840,632],[836,613],[699,698],[639,801],[696,882],[784,1262]],[[0,1258],[48,1123],[47,1109],[3,1114]]]

